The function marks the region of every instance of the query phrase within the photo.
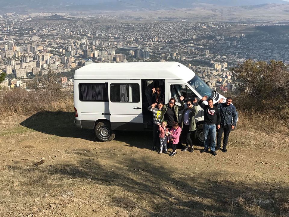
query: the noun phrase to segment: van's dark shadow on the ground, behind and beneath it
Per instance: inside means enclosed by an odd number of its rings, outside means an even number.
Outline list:
[[[79,129],[74,124],[73,112],[37,112],[20,125],[45,134],[59,137],[81,138],[89,141],[98,141],[93,129]],[[116,131],[116,141],[124,142],[129,146],[140,149],[152,148],[152,131]],[[184,142],[184,140],[182,140]],[[179,146],[181,148],[182,146]]]

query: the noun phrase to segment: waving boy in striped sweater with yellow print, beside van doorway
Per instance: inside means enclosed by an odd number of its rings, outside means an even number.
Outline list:
[[[156,108],[157,106],[157,108]],[[163,102],[159,101],[157,103],[152,104],[151,106],[148,107],[148,110],[153,112],[153,150],[157,150],[157,146],[160,146],[160,138],[158,134],[159,130],[159,125],[161,124],[161,111],[163,108]]]

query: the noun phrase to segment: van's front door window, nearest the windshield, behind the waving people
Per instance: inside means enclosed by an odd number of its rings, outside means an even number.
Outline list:
[[[173,84],[170,86],[172,98],[176,99],[176,102],[180,102],[180,96],[184,96],[185,102],[192,101],[197,95],[186,85],[182,84]]]

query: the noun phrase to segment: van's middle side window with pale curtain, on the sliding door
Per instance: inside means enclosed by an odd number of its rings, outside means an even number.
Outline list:
[[[139,102],[139,84],[110,84],[111,102]]]

